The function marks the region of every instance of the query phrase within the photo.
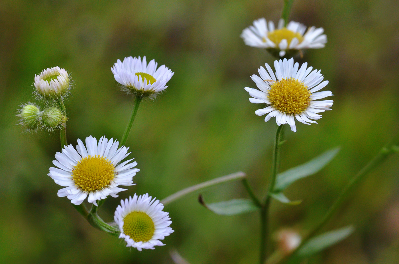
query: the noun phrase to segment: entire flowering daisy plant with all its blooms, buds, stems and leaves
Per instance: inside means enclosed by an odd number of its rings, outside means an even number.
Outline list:
[[[285,124],[290,126],[292,132],[296,132],[302,124],[316,124],[315,120],[322,117],[320,113],[332,110],[333,106],[331,99],[325,99],[332,96],[332,92],[322,91],[328,85],[328,81],[324,80],[321,71],[308,67],[307,62],[299,64],[292,58],[298,54],[303,55],[302,49],[322,48],[327,41],[322,28],[311,27],[306,30],[306,26],[298,22],[288,22],[292,2],[293,0],[284,0],[282,18],[277,28],[273,22],[259,19],[241,35],[247,45],[265,48],[277,57],[273,63],[265,63],[265,67],[260,66],[259,75],[251,76],[257,89],[245,87],[251,97],[249,101],[261,105],[255,114],[265,116],[265,121],[273,118],[277,123],[269,184],[264,188],[265,196],[262,199],[253,192],[245,173],[237,172],[188,187],[161,201],[152,198],[148,193],[134,193],[128,199],[120,201],[115,210],[114,222],[106,223],[99,217],[98,210],[109,196],[116,198],[119,192],[128,191],[124,186],[134,185],[134,177],[140,177],[142,172],[136,168],[138,163],[131,158],[134,154],[130,155],[131,152],[128,152],[129,148],[125,146],[126,140],[141,100],[153,99],[160,95],[168,87],[167,83],[174,75],[174,72],[165,65],[158,67],[155,60],[147,63],[145,56],[126,57],[123,61],[118,59],[111,68],[118,86],[126,94],[134,97],[132,115],[120,142],[113,138],[108,139],[106,136],[97,140],[87,135],[85,142],[79,139],[77,145],[68,145],[67,121],[73,122],[73,120],[67,118],[64,101],[71,93],[73,83],[71,76],[60,67],[48,68],[35,75],[34,95],[38,102],[22,104],[18,116],[20,124],[27,131],[59,130],[60,132],[61,150],[55,154],[53,160],[55,167],[50,167],[48,174],[62,187],[57,195],[69,199],[93,227],[122,238],[126,246],[139,251],[163,246],[162,240],[174,232],[169,214],[163,211],[164,206],[188,193],[236,180],[241,180],[249,199],[205,203],[203,196],[199,195],[199,202],[219,215],[237,215],[255,211],[259,213],[260,264],[295,263],[350,235],[354,230],[352,226],[323,234],[318,232],[361,179],[391,154],[399,151],[399,136],[384,146],[351,179],[314,228],[308,232],[294,229],[281,231],[277,236],[277,243],[272,244],[272,230],[269,225],[272,201],[277,200],[290,206],[300,203],[300,201],[290,201],[284,195],[284,190],[295,181],[320,171],[339,152],[339,148],[334,148],[305,164],[279,172],[280,148],[285,142],[283,139]],[[39,103],[43,105],[40,106]],[[180,256],[174,252],[173,256]]]

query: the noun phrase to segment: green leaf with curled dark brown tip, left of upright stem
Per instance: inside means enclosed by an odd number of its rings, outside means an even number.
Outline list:
[[[259,207],[250,199],[232,199],[219,203],[205,203],[202,195],[198,197],[199,203],[217,215],[239,215],[259,210]]]

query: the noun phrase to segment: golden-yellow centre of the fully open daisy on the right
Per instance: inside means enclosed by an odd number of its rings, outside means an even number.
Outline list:
[[[288,78],[275,81],[269,91],[271,106],[286,114],[300,114],[310,104],[310,91],[298,79]]]

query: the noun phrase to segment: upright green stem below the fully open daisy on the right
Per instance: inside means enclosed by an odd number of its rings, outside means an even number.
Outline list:
[[[280,125],[276,131],[275,137],[275,144],[273,148],[273,164],[272,164],[272,171],[270,175],[269,187],[265,197],[265,203],[261,209],[261,254],[259,258],[259,262],[263,264],[265,262],[267,251],[269,249],[268,242],[269,242],[269,208],[271,202],[271,196],[269,193],[273,191],[274,185],[276,182],[277,172],[279,171],[279,161],[280,161],[280,142],[282,138],[282,131],[284,125]]]

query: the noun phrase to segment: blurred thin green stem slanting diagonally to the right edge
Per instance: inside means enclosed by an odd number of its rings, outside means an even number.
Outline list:
[[[326,212],[320,223],[314,227],[302,240],[302,243],[294,250],[290,256],[294,255],[310,238],[312,238],[322,227],[328,222],[328,220],[331,219],[331,217],[334,215],[334,213],[337,211],[338,208],[341,207],[341,205],[346,201],[348,198],[348,195],[354,191],[354,188],[357,187],[359,182],[364,179],[365,175],[369,173],[372,169],[377,167],[377,165],[381,164],[389,156],[394,154],[396,152],[395,146],[399,142],[399,134],[386,146],[384,146],[380,152],[372,159],[370,160],[350,181],[349,183],[345,186],[345,188],[342,190],[338,198],[335,200],[335,202],[331,205],[330,209]],[[284,258],[282,262],[285,262],[286,260],[289,259],[289,256]]]

